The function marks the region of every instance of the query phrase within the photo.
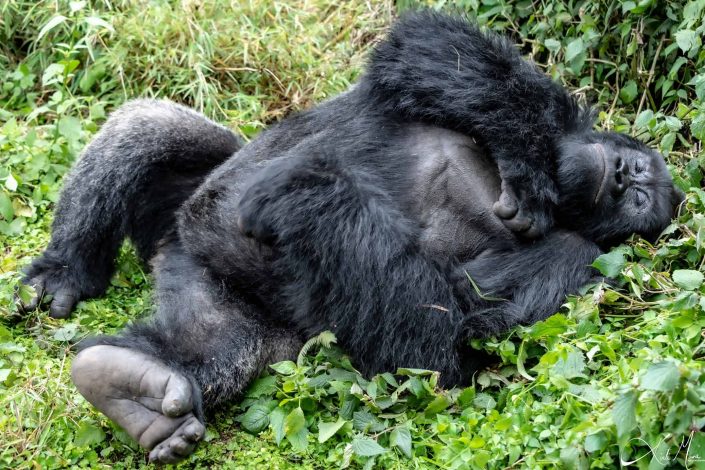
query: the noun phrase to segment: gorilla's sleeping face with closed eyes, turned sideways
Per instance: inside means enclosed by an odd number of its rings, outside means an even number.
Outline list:
[[[684,197],[660,154],[615,133],[565,138],[557,179],[559,223],[603,245],[656,239]]]

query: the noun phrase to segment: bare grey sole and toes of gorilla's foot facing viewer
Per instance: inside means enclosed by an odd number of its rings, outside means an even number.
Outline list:
[[[71,377],[93,406],[151,450],[150,461],[178,462],[205,434],[193,414],[191,383],[151,356],[92,346],[76,356]]]

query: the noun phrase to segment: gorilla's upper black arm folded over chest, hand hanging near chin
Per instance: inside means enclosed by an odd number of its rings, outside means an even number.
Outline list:
[[[376,47],[361,88],[403,119],[478,138],[516,194],[517,215],[532,219],[525,233],[546,233],[557,200],[555,144],[589,130],[592,113],[506,38],[440,13],[407,15]]]

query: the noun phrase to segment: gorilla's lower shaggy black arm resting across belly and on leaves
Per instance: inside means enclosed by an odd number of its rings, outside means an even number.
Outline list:
[[[239,205],[241,229],[273,243],[286,319],[309,335],[333,330],[367,374],[423,367],[447,385],[467,381],[481,354],[468,354],[467,339],[545,317],[591,277],[597,248],[569,233],[436,263],[380,187],[325,154],[292,157],[258,173]],[[509,301],[482,300],[466,272]]]

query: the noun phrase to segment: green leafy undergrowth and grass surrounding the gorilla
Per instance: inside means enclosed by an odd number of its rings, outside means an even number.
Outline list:
[[[365,379],[324,333],[211,417],[185,466],[705,468],[705,0],[423,4],[511,35],[599,107],[601,126],[663,152],[688,194],[677,220],[656,245],[635,239],[596,261],[614,284],[474,344],[498,360],[472,387],[442,390],[412,369]],[[0,2],[0,467],[146,464],[67,372],[72,344],[150,311],[129,245],[108,294],[69,320],[13,302],[61,178],[106,114],[169,97],[251,138],[348,87],[396,14],[419,5]]]

